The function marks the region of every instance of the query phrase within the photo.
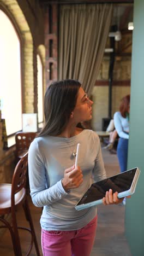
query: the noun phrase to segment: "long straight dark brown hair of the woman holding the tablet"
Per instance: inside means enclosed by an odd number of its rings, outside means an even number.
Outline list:
[[[57,136],[67,126],[70,114],[74,110],[80,82],[67,79],[53,82],[45,92],[45,126],[39,136]]]

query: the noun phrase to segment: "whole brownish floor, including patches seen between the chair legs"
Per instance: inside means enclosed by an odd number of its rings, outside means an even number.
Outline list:
[[[109,151],[103,150],[103,158],[108,176],[119,172],[116,154],[110,154]],[[34,207],[31,201],[29,202],[29,205],[31,206],[32,218],[41,252],[39,224],[41,208]],[[131,255],[127,240],[124,236],[124,212],[125,206],[123,205],[98,206],[98,228],[91,256]],[[22,208],[19,208],[19,211],[17,211],[17,218],[19,225],[28,226],[23,216]],[[25,255],[26,248],[29,244],[30,235],[27,234],[27,232],[22,231],[20,232],[20,236],[23,255]],[[11,238],[8,231],[6,231],[4,236],[0,239],[0,255],[14,255]],[[34,248],[32,249],[30,255],[36,255]],[[41,253],[41,255],[43,254]]]

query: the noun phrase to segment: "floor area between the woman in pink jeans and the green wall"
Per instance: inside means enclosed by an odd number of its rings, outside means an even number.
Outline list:
[[[116,154],[102,150],[107,176],[119,172]],[[124,236],[125,206],[98,206],[98,228],[91,256],[130,256],[130,249]]]

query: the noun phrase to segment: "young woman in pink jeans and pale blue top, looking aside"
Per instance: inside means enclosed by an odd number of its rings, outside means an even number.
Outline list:
[[[75,80],[52,83],[46,90],[45,126],[28,153],[32,201],[44,207],[41,246],[46,256],[89,256],[97,226],[97,209],[76,211],[75,205],[95,181],[106,177],[98,135],[77,128],[91,120],[92,104]],[[75,167],[77,143],[81,144]],[[107,191],[104,205],[122,202]]]

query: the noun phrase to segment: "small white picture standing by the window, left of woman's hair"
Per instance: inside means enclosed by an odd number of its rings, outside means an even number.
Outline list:
[[[22,131],[23,132],[37,132],[37,113],[22,114]]]

